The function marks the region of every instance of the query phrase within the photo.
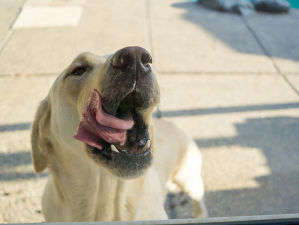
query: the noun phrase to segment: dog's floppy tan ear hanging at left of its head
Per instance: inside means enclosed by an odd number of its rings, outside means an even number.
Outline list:
[[[34,169],[37,173],[47,167],[47,153],[52,148],[49,137],[50,103],[44,99],[37,109],[31,130],[31,147]]]

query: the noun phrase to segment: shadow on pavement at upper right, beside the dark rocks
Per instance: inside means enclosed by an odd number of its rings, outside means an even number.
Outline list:
[[[246,23],[239,15],[216,12],[204,8],[194,1],[174,3],[172,7],[184,9],[183,19],[205,29],[238,52],[264,55],[263,48],[266,48],[273,57],[299,61],[298,51],[294,52],[294,49],[297,49],[294,35],[298,35],[298,33],[295,33],[296,25],[294,24],[299,18],[298,10],[292,9],[290,14],[263,14],[261,18],[254,18],[259,32],[258,38],[261,39],[257,41],[256,34],[253,35],[247,29]],[[261,13],[259,13],[260,15]],[[248,19],[252,17],[255,15],[249,16]],[[278,20],[273,20],[278,17]],[[290,21],[294,21],[294,24],[290,24]],[[277,29],[280,31],[278,32]],[[250,28],[250,30],[252,29]],[[260,41],[263,45],[262,48]]]

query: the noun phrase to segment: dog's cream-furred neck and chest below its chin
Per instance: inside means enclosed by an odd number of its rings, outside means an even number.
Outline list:
[[[64,163],[65,160],[68,160],[68,163]],[[67,166],[58,167],[55,166],[56,163]],[[69,215],[69,221],[138,219],[141,214],[133,215],[133,212],[136,213],[142,209],[133,208],[138,204],[131,204],[130,202],[148,201],[152,204],[152,201],[157,200],[161,205],[160,201],[163,199],[161,197],[163,193],[158,191],[161,190],[161,184],[153,170],[154,168],[151,167],[147,170],[146,176],[125,180],[117,178],[90,159],[72,157],[72,161],[70,161],[67,156],[60,156],[58,160],[56,157],[55,162],[49,166],[51,179],[48,186],[53,189],[52,193],[55,194],[51,201],[57,199],[65,204],[67,209],[65,213]],[[146,199],[148,197],[141,193],[144,189],[142,186],[153,186],[155,182],[159,198],[155,200]],[[136,192],[136,184],[140,186],[138,188],[140,193],[133,193],[132,191]],[[72,191],[69,191],[70,189]],[[136,199],[135,196],[142,197]],[[81,207],[78,208],[78,205]],[[132,206],[128,207],[128,205]],[[160,210],[161,212],[164,211],[163,209]],[[148,214],[150,215],[150,213]],[[155,214],[157,213],[155,212]]]

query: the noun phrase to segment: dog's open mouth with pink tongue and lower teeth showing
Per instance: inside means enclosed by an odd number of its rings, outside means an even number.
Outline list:
[[[106,112],[102,97],[93,90],[83,111],[75,138],[106,160],[136,159],[150,154],[148,128],[137,112],[139,96],[131,92],[119,103],[115,115]]]

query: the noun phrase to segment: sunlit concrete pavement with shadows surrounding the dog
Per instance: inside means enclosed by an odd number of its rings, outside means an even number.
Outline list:
[[[36,8],[78,21],[20,20]],[[243,18],[184,0],[0,1],[0,223],[43,220],[48,175],[33,172],[30,124],[55,77],[80,52],[130,45],[152,54],[162,117],[201,148],[209,215],[298,213],[298,27],[295,9]],[[169,196],[170,217],[192,216],[186,198]]]

